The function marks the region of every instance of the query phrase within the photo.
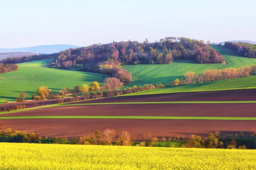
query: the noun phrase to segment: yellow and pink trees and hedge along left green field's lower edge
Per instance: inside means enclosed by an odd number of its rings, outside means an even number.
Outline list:
[[[91,82],[90,87],[87,84],[76,86],[73,88],[73,90],[70,90],[70,88],[62,88],[58,93],[53,93],[51,89],[49,89],[46,86],[41,86],[37,89],[35,94],[32,94],[31,99],[33,100],[44,100],[44,99],[56,99],[55,104],[61,104],[65,102],[76,102],[76,101],[84,101],[89,99],[97,99],[101,97],[111,97],[111,96],[119,96],[122,94],[130,94],[130,93],[136,93],[139,91],[147,91],[152,90],[156,88],[165,88],[165,85],[163,84],[156,84],[156,85],[143,85],[143,86],[136,86],[134,85],[131,88],[125,88],[123,90],[120,90],[123,83],[115,78],[115,77],[107,77],[104,79],[103,86],[99,86],[99,82]],[[78,94],[87,93],[89,94],[83,94],[82,96],[78,96]],[[65,95],[72,95],[72,97],[65,97]],[[19,97],[16,99],[16,102],[24,102],[26,99],[26,92],[21,91]],[[4,99],[5,101],[5,99]],[[7,102],[5,102],[7,103]],[[42,103],[41,105],[44,105]],[[35,102],[34,107],[38,107],[39,104]],[[6,108],[0,108],[0,112],[3,111],[12,111],[17,109],[23,109],[26,105],[13,105]]]

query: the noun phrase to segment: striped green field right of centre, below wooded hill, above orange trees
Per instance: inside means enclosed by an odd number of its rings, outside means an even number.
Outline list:
[[[236,52],[228,48],[222,46],[212,47],[221,53],[225,59],[226,64],[198,64],[195,60],[175,60],[170,64],[163,65],[125,65],[122,67],[127,71],[131,71],[134,78],[131,85],[156,83],[170,85],[174,79],[183,78],[183,75],[188,71],[201,74],[207,69],[238,68],[243,65],[256,64],[256,59],[239,57]]]

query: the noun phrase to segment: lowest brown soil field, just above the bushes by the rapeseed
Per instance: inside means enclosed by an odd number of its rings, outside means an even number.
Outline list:
[[[221,136],[243,132],[245,137],[256,121],[245,120],[163,120],[163,119],[4,119],[4,128],[38,133],[49,138],[91,135],[96,129],[116,129],[117,135],[127,130],[141,140],[141,134],[150,132],[159,139],[164,137],[189,137],[197,134],[206,137],[208,133],[219,131]]]

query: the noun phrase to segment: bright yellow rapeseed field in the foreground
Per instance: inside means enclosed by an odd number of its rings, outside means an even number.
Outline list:
[[[256,150],[0,143],[0,170],[255,170]]]

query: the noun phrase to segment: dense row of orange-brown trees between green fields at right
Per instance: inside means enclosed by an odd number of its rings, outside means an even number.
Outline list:
[[[171,82],[172,86],[194,84],[201,82],[212,82],[222,79],[233,79],[239,77],[249,77],[256,75],[256,65],[242,66],[240,68],[225,68],[223,70],[205,70],[203,74],[198,75],[195,72],[189,71],[184,74],[185,80],[175,79]]]

